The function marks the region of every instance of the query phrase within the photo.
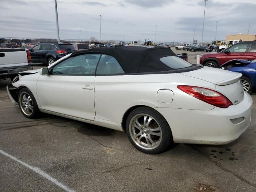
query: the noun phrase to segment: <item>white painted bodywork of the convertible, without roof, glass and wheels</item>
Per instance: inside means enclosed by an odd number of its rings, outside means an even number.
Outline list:
[[[127,110],[134,106],[148,106],[164,116],[174,142],[225,144],[238,138],[250,124],[252,98],[241,92],[239,77],[238,73],[208,67],[182,73],[143,75],[61,76],[35,73],[20,76],[13,86],[28,87],[40,110],[49,114],[122,131],[122,120]],[[220,82],[226,85],[216,85]],[[216,90],[234,105],[215,107],[186,94],[177,88],[178,85]],[[158,101],[159,90],[173,92],[170,102],[167,101],[168,96],[164,97],[164,102]],[[230,121],[240,117],[244,120],[238,124]]]

